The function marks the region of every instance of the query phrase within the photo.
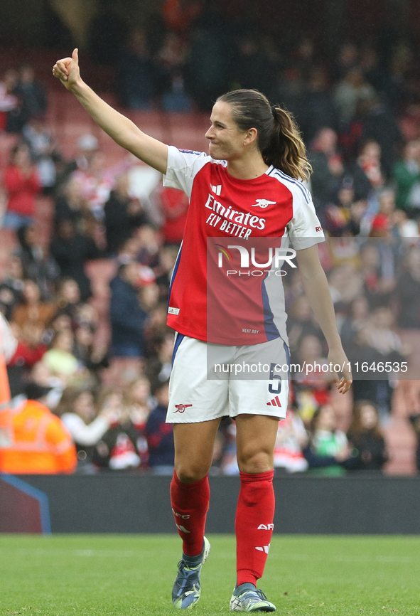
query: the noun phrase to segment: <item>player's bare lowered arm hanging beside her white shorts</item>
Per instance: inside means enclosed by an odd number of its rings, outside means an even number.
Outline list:
[[[352,383],[352,375],[338,334],[333,300],[327,277],[319,260],[318,245],[297,250],[296,258],[303,289],[328,344],[328,361],[342,366],[340,372],[343,378],[338,383],[338,391],[345,393]]]

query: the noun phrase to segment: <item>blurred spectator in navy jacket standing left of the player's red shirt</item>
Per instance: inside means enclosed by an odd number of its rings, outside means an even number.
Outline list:
[[[112,346],[117,357],[144,356],[144,322],[146,312],[141,308],[136,283],[139,267],[136,263],[119,266],[118,274],[110,282]]]

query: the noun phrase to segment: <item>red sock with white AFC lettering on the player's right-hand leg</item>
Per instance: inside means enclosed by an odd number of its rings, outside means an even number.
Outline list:
[[[237,585],[257,584],[269,553],[274,519],[274,471],[239,473],[241,489],[236,509]]]

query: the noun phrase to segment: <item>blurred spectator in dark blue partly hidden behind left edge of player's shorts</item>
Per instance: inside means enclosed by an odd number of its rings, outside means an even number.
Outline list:
[[[154,474],[173,474],[175,449],[173,445],[173,425],[166,423],[169,393],[168,383],[161,383],[155,392],[157,405],[146,423],[147,445],[149,447],[149,467]]]

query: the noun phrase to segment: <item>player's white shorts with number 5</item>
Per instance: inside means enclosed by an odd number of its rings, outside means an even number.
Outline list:
[[[251,378],[247,365],[257,366]],[[281,338],[225,346],[177,334],[166,423],[196,423],[239,413],[283,419],[289,397],[287,366],[289,349]]]

